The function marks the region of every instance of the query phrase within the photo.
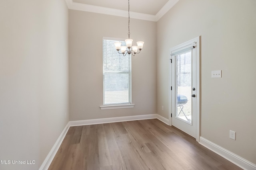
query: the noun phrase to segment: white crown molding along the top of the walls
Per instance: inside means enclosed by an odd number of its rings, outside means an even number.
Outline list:
[[[143,14],[143,13],[138,13],[138,12],[130,12],[130,18],[139,19],[139,20],[147,20],[147,21],[158,21],[178,1],[179,0],[169,0],[156,15]],[[94,12],[94,13],[99,13],[99,14],[107,14],[107,15],[112,15],[112,16],[120,16],[120,17],[128,18],[127,11],[124,11],[124,10],[116,10],[113,8],[105,8],[105,7],[100,7],[100,6],[81,4],[81,3],[73,2],[73,0],[66,0],[66,4],[68,6],[68,9],[70,9],[70,10],[80,10],[80,11]]]

